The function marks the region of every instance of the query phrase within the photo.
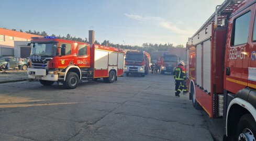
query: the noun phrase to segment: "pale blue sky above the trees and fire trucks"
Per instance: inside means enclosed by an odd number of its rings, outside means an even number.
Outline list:
[[[46,31],[126,45],[185,46],[224,0],[0,0],[0,28]],[[125,43],[124,43],[124,42]]]

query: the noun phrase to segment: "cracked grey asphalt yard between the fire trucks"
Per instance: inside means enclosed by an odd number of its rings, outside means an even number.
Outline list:
[[[170,74],[102,79],[67,90],[0,84],[0,140],[221,140],[221,119],[174,94]],[[214,125],[214,126],[213,126]]]

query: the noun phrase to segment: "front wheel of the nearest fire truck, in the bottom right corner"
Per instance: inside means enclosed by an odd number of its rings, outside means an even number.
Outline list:
[[[244,114],[239,120],[236,137],[238,140],[255,140],[256,122],[250,113]]]

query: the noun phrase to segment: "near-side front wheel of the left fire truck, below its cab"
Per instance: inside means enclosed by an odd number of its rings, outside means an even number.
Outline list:
[[[69,72],[66,74],[66,80],[63,83],[63,86],[67,89],[74,89],[79,84],[79,77],[74,72]]]

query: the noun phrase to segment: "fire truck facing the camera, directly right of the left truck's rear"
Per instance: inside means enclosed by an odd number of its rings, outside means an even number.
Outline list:
[[[149,73],[149,57],[150,55],[145,51],[127,51],[125,58],[125,73],[141,74],[144,77]]]

